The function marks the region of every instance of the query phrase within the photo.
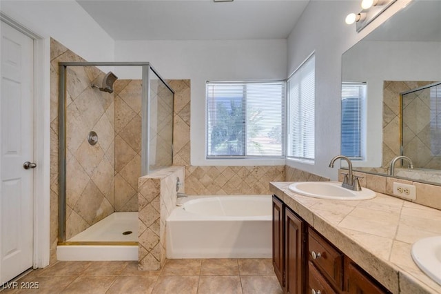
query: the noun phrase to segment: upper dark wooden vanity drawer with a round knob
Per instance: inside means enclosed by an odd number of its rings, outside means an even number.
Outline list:
[[[342,290],[342,253],[311,228],[309,228],[308,236],[309,261],[318,268],[331,284],[334,284],[338,290]]]

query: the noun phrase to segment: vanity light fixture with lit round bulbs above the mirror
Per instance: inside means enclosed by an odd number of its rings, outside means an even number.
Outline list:
[[[345,22],[349,25],[356,23],[356,30],[357,32],[360,32],[360,30],[376,19],[378,15],[389,8],[389,6],[395,1],[397,0],[362,0],[362,11],[358,14],[348,14]]]

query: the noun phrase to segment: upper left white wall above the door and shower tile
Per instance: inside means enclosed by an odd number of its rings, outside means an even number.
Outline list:
[[[41,37],[57,39],[87,61],[114,59],[114,40],[76,1],[1,0],[0,10]]]

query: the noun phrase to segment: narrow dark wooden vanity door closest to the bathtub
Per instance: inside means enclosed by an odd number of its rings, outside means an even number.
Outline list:
[[[283,271],[285,268],[285,240],[283,235],[283,222],[285,222],[283,202],[273,195],[273,266],[274,273],[280,286],[285,287],[285,277]]]

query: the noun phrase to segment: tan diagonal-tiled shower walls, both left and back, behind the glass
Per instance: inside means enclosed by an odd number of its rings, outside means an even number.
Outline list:
[[[58,85],[59,61],[85,61],[51,39],[50,254],[58,242]],[[67,75],[67,222],[66,237],[76,235],[114,211],[138,210],[141,175],[140,81],[118,81],[110,94],[90,87],[101,85],[104,73],[95,67],[68,67]],[[135,110],[133,110],[135,109]],[[139,127],[138,127],[139,126]],[[96,145],[87,137],[94,130]],[[129,142],[127,144],[127,142]],[[115,152],[116,151],[116,152]],[[122,151],[122,152],[121,152]],[[116,192],[116,193],[115,193]]]

